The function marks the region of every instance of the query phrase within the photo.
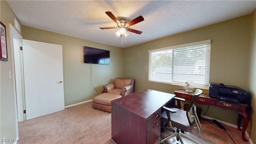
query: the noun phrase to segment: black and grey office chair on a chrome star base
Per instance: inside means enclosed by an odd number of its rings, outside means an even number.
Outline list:
[[[200,144],[198,141],[182,133],[182,132],[190,132],[192,134],[200,133],[201,124],[196,114],[196,106],[194,105],[194,101],[196,100],[196,97],[198,97],[200,94],[202,94],[202,90],[196,89],[196,92],[194,93],[194,96],[192,97],[186,111],[181,110],[179,108],[167,108],[166,106],[162,107],[162,109],[165,110],[165,112],[162,112],[161,114],[161,121],[165,122],[166,124],[168,123],[170,127],[164,126],[164,128],[172,131],[173,133],[163,138],[160,141],[161,144],[165,140],[172,137],[177,137],[177,140],[180,140],[182,144],[184,144],[184,142],[181,137],[187,138],[188,140],[191,140],[197,144]],[[194,127],[195,124],[196,124],[196,127]],[[191,132],[191,130],[193,129],[197,129],[197,132]],[[182,132],[180,132],[180,130]]]

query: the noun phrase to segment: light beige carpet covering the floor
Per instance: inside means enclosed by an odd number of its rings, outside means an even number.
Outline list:
[[[249,144],[242,140],[241,131],[228,127],[228,134],[211,121],[201,120],[202,131],[199,135],[186,133],[202,144]],[[60,112],[48,114],[18,123],[18,144],[116,144],[111,138],[111,114],[92,108],[92,102],[66,108]],[[155,142],[168,136],[165,130]],[[191,141],[183,139],[187,144]],[[164,142],[175,144],[176,138]]]

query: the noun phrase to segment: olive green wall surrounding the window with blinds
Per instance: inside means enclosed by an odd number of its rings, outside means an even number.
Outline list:
[[[145,88],[173,93],[180,86],[148,82],[148,50],[211,39],[210,82],[247,89],[248,54],[252,15],[242,16],[196,30],[124,49],[125,75],[136,80],[135,90]],[[204,90],[208,93],[208,90]],[[199,105],[202,114],[207,106]],[[238,112],[210,106],[206,116],[237,124]]]

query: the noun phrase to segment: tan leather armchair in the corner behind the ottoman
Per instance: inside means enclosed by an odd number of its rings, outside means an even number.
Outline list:
[[[106,93],[126,96],[134,93],[134,78],[115,78],[113,84],[103,86]]]

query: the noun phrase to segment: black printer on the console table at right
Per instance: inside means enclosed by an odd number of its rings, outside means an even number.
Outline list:
[[[209,83],[210,98],[224,102],[247,103],[247,92],[238,86],[226,86],[219,83]]]

